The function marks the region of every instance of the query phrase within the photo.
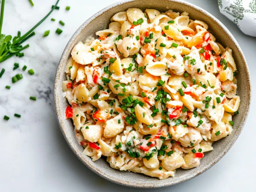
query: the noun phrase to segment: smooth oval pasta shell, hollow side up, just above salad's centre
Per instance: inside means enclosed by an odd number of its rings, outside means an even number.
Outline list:
[[[146,67],[146,71],[154,76],[161,76],[165,75],[168,71],[166,63],[163,63],[161,61],[156,61],[154,63],[150,63]]]

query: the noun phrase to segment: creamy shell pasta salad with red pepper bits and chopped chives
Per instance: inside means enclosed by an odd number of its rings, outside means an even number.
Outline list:
[[[166,179],[198,167],[238,114],[232,50],[187,12],[129,8],[72,49],[63,92],[83,153]]]

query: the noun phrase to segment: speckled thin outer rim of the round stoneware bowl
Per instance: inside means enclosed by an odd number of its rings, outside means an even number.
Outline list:
[[[58,64],[58,67],[57,67],[57,71],[56,71],[56,75],[55,75],[55,80],[54,80],[54,109],[55,109],[55,113],[56,113],[56,117],[57,117],[57,120],[58,120],[58,124],[60,126],[60,129],[61,129],[61,132],[66,140],[66,142],[68,143],[69,147],[71,148],[71,150],[73,151],[73,153],[77,156],[77,158],[80,159],[80,161],[83,162],[84,165],[86,165],[90,170],[92,170],[94,173],[96,173],[97,175],[105,178],[106,180],[108,181],[111,181],[111,182],[114,182],[116,184],[120,184],[120,185],[124,185],[124,186],[127,186],[127,187],[136,187],[136,188],[160,188],[160,187],[167,187],[167,186],[170,186],[170,185],[175,185],[175,184],[179,184],[181,182],[185,182],[185,181],[188,181],[200,174],[202,174],[203,172],[205,172],[206,170],[208,170],[210,167],[212,167],[214,164],[216,164],[227,152],[228,150],[230,150],[230,148],[232,147],[232,145],[235,143],[235,141],[237,140],[238,136],[240,135],[244,125],[245,125],[245,122],[246,122],[246,118],[248,116],[248,113],[249,113],[249,109],[250,109],[250,103],[251,103],[251,80],[250,80],[250,73],[249,73],[249,68],[248,68],[248,65],[246,63],[246,59],[245,59],[245,56],[240,48],[240,46],[238,45],[237,41],[235,40],[235,38],[233,37],[233,35],[230,33],[230,31],[217,19],[215,18],[212,14],[210,14],[209,12],[203,10],[202,8],[194,5],[194,4],[191,4],[191,3],[188,3],[186,1],[183,1],[183,0],[169,0],[169,1],[173,1],[173,2],[177,2],[177,3],[181,3],[181,4],[185,4],[187,6],[190,6],[191,8],[194,8],[200,12],[202,12],[203,14],[209,16],[212,20],[214,20],[215,22],[218,23],[218,25],[223,28],[224,31],[226,31],[226,34],[225,35],[228,35],[228,37],[231,39],[231,41],[234,42],[236,48],[238,49],[238,52],[240,53],[240,55],[242,56],[242,63],[244,63],[244,67],[245,67],[245,73],[246,73],[246,76],[247,78],[249,79],[249,82],[248,82],[248,90],[249,90],[249,105],[246,107],[245,109],[245,116],[243,117],[242,119],[242,123],[240,124],[240,126],[237,128],[235,134],[232,136],[232,142],[230,142],[227,146],[225,146],[225,148],[223,149],[223,151],[221,153],[219,153],[218,156],[216,156],[214,158],[214,160],[211,162],[211,163],[208,163],[206,166],[204,167],[201,167],[201,170],[193,173],[193,174],[190,174],[188,177],[186,178],[180,178],[180,180],[177,180],[177,181],[174,181],[174,182],[170,182],[170,183],[167,183],[167,184],[162,184],[162,185],[159,185],[159,184],[155,184],[154,186],[152,187],[145,187],[145,185],[143,184],[138,184],[138,185],[134,185],[134,184],[131,184],[129,181],[121,181],[121,180],[115,180],[111,177],[108,177],[106,175],[104,175],[103,172],[98,172],[97,170],[95,170],[93,167],[91,167],[89,165],[89,163],[86,162],[86,160],[84,160],[82,157],[80,157],[80,154],[75,150],[72,142],[69,140],[68,136],[65,134],[65,127],[64,127],[64,124],[62,123],[62,118],[61,116],[63,114],[61,114],[60,112],[60,105],[59,105],[59,97],[58,97],[58,90],[57,90],[57,87],[58,87],[58,84],[60,83],[58,78],[60,76],[60,73],[61,73],[61,68],[62,68],[62,63],[64,62],[64,57],[66,54],[69,54],[68,53],[68,50],[70,48],[70,46],[72,45],[72,42],[75,41],[75,39],[77,38],[77,36],[81,33],[81,31],[83,31],[83,29],[92,21],[94,20],[95,18],[97,18],[98,16],[100,16],[101,14],[103,14],[104,12],[107,12],[108,10],[110,10],[111,8],[113,7],[117,7],[119,5],[122,5],[122,4],[126,4],[126,3],[129,3],[129,2],[132,2],[132,1],[138,1],[138,0],[124,0],[124,1],[119,1],[117,3],[114,3],[112,5],[109,5],[108,7],[100,10],[99,12],[97,12],[96,14],[94,14],[93,16],[91,16],[89,19],[86,20],[86,22],[84,22],[80,27],[79,29],[76,30],[76,32],[73,34],[73,36],[71,37],[71,39],[69,40],[68,44],[66,45],[63,53],[62,53],[62,56],[61,56],[61,59],[60,59],[60,62]],[[64,99],[64,98],[62,98]],[[149,178],[150,179],[150,178]]]

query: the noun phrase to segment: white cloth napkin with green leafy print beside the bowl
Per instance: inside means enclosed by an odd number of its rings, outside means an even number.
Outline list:
[[[256,0],[218,0],[220,12],[243,33],[256,37]]]

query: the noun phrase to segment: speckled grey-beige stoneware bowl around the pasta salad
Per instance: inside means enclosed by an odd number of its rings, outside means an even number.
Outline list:
[[[169,177],[165,180],[159,180],[158,178],[149,177],[144,174],[112,169],[103,158],[100,158],[95,162],[91,161],[90,157],[83,154],[83,147],[80,146],[76,140],[72,121],[70,119],[65,119],[65,109],[68,103],[62,94],[62,81],[65,80],[65,65],[68,58],[71,56],[72,48],[79,41],[84,42],[90,35],[95,35],[96,31],[107,29],[110,18],[114,14],[120,11],[126,11],[131,7],[140,8],[143,11],[146,8],[154,8],[160,12],[165,12],[168,9],[179,11],[180,13],[187,11],[191,19],[202,20],[209,26],[209,31],[216,37],[217,42],[220,42],[224,47],[228,46],[232,49],[233,57],[238,69],[237,85],[241,103],[239,114],[233,117],[235,125],[232,134],[215,142],[213,144],[214,150],[205,153],[205,157],[201,160],[199,167],[188,170],[177,169],[175,177]],[[84,163],[84,165],[99,176],[120,185],[137,188],[158,188],[178,184],[198,176],[217,163],[227,153],[241,133],[249,112],[250,97],[251,86],[249,69],[244,54],[235,38],[213,15],[193,4],[181,0],[125,0],[112,4],[97,12],[86,20],[69,40],[61,56],[54,82],[54,106],[57,120],[66,142],[69,144],[75,155]]]

